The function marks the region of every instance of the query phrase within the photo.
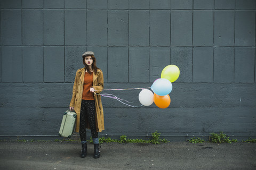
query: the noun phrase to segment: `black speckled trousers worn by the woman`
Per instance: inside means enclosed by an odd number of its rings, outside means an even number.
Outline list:
[[[98,132],[95,124],[94,100],[82,100],[79,127],[81,141],[86,141],[86,120],[89,122],[92,138],[98,138]]]

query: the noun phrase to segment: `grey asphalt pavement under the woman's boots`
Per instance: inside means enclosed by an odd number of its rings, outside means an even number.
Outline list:
[[[256,169],[255,143],[170,142],[93,144],[80,158],[78,142],[0,142],[0,169]]]

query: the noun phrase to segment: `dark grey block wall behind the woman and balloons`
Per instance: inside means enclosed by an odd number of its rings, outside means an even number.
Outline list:
[[[145,88],[175,64],[171,104],[102,98],[100,135],[256,135],[254,0],[0,1],[0,135],[55,136],[81,55],[105,89]],[[140,90],[107,91],[139,106]],[[89,133],[90,134],[90,133]],[[33,137],[31,137],[33,138]]]

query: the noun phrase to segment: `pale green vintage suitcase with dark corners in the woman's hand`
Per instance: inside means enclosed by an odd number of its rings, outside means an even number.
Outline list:
[[[74,111],[66,111],[63,115],[59,136],[70,138],[73,134],[76,123],[76,113]]]

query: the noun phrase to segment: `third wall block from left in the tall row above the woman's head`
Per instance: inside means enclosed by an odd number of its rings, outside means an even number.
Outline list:
[[[64,45],[63,10],[44,10],[44,45]]]

